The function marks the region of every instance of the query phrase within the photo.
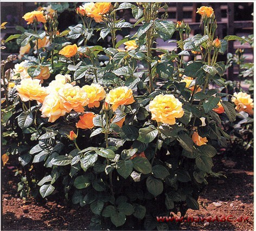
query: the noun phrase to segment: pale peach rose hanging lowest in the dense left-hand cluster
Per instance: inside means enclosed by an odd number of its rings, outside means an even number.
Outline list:
[[[52,123],[68,112],[57,93],[49,94],[44,98],[40,111],[42,117],[48,117],[48,122]]]

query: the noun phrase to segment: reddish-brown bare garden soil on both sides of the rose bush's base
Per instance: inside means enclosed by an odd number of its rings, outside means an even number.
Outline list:
[[[236,155],[238,156],[238,154]],[[200,210],[188,210],[191,217],[247,216],[243,222],[182,222],[181,230],[253,230],[253,156],[215,157],[215,171],[227,178],[208,179],[199,197]],[[9,168],[8,168],[9,167]],[[89,230],[89,207],[75,206],[57,195],[48,200],[22,200],[17,193],[18,177],[11,164],[2,168],[2,230]],[[216,207],[219,206],[219,207]]]

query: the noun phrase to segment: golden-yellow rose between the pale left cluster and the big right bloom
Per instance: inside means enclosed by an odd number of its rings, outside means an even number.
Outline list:
[[[120,105],[127,105],[135,102],[132,95],[132,89],[128,87],[118,87],[110,90],[105,101],[112,104],[113,111],[116,111]]]

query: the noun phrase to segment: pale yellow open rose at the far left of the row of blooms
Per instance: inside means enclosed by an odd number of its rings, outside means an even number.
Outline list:
[[[16,87],[18,96],[21,100],[27,102],[29,100],[36,100],[40,103],[48,95],[46,88],[41,87],[40,80],[32,80],[32,78],[24,78],[20,85]]]

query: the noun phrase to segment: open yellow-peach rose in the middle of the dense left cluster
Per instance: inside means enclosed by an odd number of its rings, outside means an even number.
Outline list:
[[[87,93],[79,86],[74,87],[70,83],[66,83],[58,93],[68,112],[74,109],[78,113],[83,113],[84,107],[89,103]]]

